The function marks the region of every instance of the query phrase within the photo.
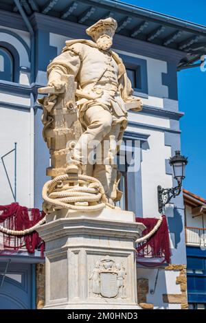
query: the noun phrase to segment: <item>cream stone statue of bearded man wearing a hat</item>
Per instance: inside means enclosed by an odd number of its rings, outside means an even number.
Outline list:
[[[140,111],[141,100],[131,96],[132,88],[122,59],[111,50],[117,21],[102,19],[87,28],[92,41],[66,41],[62,54],[47,68],[48,85],[60,91],[65,87],[62,75],[73,75],[77,82],[76,104],[83,132],[71,156],[67,172],[81,173],[94,147],[102,146],[91,176],[99,179],[108,201],[119,199],[117,166],[113,161],[118,143],[127,125],[127,110]],[[104,142],[108,141],[109,144]],[[92,148],[93,147],[93,148]],[[86,152],[86,153],[85,153]],[[88,174],[87,174],[88,175]]]

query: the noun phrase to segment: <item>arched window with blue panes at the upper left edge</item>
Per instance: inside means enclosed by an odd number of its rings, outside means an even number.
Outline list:
[[[4,47],[0,47],[0,80],[14,81],[14,60]]]

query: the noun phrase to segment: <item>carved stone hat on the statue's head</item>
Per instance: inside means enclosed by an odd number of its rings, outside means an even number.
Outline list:
[[[100,19],[97,23],[87,28],[86,32],[91,38],[95,38],[96,34],[111,34],[113,36],[115,34],[115,30],[117,29],[117,21],[115,19],[109,17],[106,19]]]

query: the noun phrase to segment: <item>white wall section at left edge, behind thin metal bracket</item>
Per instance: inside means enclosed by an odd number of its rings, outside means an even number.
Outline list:
[[[0,157],[14,148],[17,142],[17,201],[30,206],[30,110],[19,111],[0,107]],[[4,159],[8,176],[14,188],[14,153]],[[14,202],[0,159],[0,204]]]

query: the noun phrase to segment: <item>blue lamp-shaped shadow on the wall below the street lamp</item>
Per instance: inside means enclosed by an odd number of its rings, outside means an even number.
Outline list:
[[[174,234],[174,248],[176,249],[181,241],[181,232],[183,231],[183,220],[177,208],[174,208],[174,216],[168,216],[168,227],[170,234]]]

